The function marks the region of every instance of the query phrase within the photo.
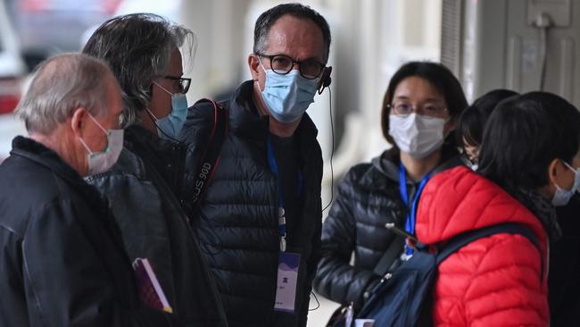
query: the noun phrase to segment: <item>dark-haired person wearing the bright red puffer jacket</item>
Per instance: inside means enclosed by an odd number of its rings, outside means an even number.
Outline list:
[[[554,205],[566,205],[580,184],[580,113],[544,92],[510,97],[487,123],[479,169],[437,174],[423,190],[419,241],[442,244],[464,231],[516,222],[518,234],[477,239],[438,266],[435,326],[547,326],[549,242],[561,231]]]

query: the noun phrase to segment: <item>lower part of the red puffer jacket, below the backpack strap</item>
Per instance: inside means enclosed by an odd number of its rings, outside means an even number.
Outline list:
[[[439,266],[435,325],[547,326],[543,263],[521,235],[497,234],[463,247]]]

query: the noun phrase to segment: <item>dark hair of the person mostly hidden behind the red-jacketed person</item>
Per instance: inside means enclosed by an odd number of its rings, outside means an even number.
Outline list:
[[[493,109],[504,99],[518,96],[519,93],[510,89],[493,89],[483,96],[479,96],[472,105],[469,105],[460,115],[455,135],[457,142],[463,145],[463,139],[470,146],[479,146],[484,135],[485,122],[493,113]]]

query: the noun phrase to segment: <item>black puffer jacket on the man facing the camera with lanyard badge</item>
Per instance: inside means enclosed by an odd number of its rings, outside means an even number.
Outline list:
[[[320,257],[322,156],[314,123],[304,115],[294,133],[303,175],[302,214],[288,222],[287,251],[300,253],[296,314],[273,311],[278,273],[278,191],[267,158],[269,118],[253,104],[253,82],[236,91],[228,103],[229,130],[220,164],[200,210],[192,221],[203,246],[230,327],[305,326]],[[210,103],[189,110],[182,138],[191,146],[186,194],[193,194],[200,153],[214,125]]]

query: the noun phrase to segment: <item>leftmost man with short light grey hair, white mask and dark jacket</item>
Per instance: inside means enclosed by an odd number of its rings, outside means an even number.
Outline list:
[[[117,161],[120,88],[87,55],[42,63],[17,114],[0,165],[0,325],[165,326],[142,306],[107,202],[82,176]],[[178,323],[173,322],[173,323]]]

